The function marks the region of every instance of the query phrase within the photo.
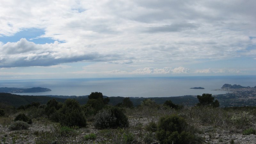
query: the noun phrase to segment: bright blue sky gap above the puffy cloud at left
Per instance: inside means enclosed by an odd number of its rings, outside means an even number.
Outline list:
[[[26,38],[30,42],[34,42],[35,44],[45,44],[45,43],[54,43],[55,40],[51,38],[37,38],[41,35],[44,35],[44,29],[37,29],[37,28],[29,28],[24,29],[14,36],[3,36],[0,37],[0,42],[6,44],[7,42],[17,42],[21,38]]]

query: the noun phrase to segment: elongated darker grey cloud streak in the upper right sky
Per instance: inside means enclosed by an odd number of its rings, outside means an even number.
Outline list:
[[[176,23],[171,25],[165,25],[162,27],[151,27],[148,28],[147,32],[155,33],[155,32],[179,32],[183,30],[195,29],[198,26],[194,23]]]

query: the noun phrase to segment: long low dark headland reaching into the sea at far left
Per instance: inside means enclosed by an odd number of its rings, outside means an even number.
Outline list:
[[[48,88],[42,87],[32,87],[32,88],[8,88],[8,87],[1,87],[0,92],[6,93],[34,93],[34,92],[49,92],[52,91]]]

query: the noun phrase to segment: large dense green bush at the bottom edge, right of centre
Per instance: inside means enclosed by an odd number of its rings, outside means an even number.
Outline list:
[[[187,130],[188,124],[184,118],[177,115],[161,117],[158,130],[156,131],[156,138],[162,144],[197,143],[198,140],[196,140],[196,137],[190,132],[187,132]]]

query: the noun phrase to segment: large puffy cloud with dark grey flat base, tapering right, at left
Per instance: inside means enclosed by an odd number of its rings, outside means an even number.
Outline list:
[[[78,52],[76,49],[61,47],[58,42],[35,44],[22,38],[16,43],[6,43],[0,47],[0,67],[52,66],[77,61],[109,61],[118,54],[98,52]]]

